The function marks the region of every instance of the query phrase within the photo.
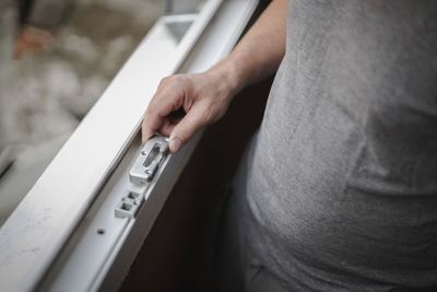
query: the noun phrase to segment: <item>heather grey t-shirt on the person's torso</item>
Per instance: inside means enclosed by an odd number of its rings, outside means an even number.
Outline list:
[[[246,236],[288,288],[437,291],[437,2],[290,0],[241,165]]]

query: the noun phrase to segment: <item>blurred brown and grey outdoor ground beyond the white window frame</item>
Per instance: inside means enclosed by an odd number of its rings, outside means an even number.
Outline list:
[[[163,14],[199,0],[0,0],[0,226]]]

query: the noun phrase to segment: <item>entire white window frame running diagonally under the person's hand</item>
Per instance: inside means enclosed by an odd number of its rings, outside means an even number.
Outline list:
[[[118,288],[200,138],[168,159],[165,175],[161,173],[138,218],[115,223],[111,200],[119,199],[116,186],[127,179],[138,155],[144,109],[162,78],[203,71],[228,54],[257,4],[257,0],[206,1],[172,51],[156,46],[155,32],[168,19],[157,21],[2,225],[2,291]],[[98,237],[95,227],[102,225],[119,229],[118,234]],[[104,252],[102,241],[109,246]]]

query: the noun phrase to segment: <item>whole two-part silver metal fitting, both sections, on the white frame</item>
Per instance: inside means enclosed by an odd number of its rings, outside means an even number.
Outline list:
[[[135,217],[144,201],[145,191],[167,154],[167,137],[155,136],[145,143],[129,172],[130,184],[115,208],[117,218],[133,219]]]

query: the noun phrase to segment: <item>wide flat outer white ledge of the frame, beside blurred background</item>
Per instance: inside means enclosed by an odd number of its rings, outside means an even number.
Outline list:
[[[32,291],[67,242],[139,129],[160,80],[180,67],[221,0],[209,0],[173,50],[156,27],[0,230],[2,291]]]

